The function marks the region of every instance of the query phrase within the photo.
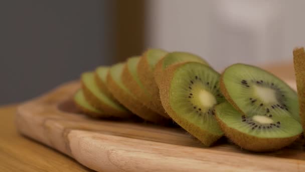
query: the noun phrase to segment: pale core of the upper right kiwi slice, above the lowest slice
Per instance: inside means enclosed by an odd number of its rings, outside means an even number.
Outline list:
[[[254,85],[254,93],[265,104],[277,104],[275,91],[273,89]]]

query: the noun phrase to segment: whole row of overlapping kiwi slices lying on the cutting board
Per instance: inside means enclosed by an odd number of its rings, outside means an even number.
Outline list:
[[[251,65],[233,64],[218,73],[198,55],[148,49],[83,73],[81,83],[74,102],[85,114],[175,122],[205,146],[225,135],[243,149],[272,151],[302,133],[296,92]]]

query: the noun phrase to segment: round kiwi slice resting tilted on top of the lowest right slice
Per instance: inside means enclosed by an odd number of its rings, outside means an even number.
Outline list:
[[[295,91],[261,68],[233,64],[223,72],[220,88],[229,103],[242,114],[287,114],[300,121]]]

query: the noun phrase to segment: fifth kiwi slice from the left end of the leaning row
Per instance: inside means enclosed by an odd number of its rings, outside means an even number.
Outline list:
[[[165,110],[161,111],[161,113],[158,112],[158,108],[154,106],[153,99],[151,99],[151,95],[143,87],[142,82],[139,80],[136,71],[136,66],[138,65],[139,60],[139,56],[128,58],[121,76],[123,84],[131,92],[131,94],[134,95],[135,98],[140,101],[144,106],[157,112],[160,115],[162,113],[162,115],[164,115],[164,117],[166,118],[170,118],[168,115],[166,115]]]

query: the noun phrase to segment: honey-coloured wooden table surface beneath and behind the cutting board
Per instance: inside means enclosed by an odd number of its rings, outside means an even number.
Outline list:
[[[267,66],[283,79],[293,80],[291,64]],[[92,171],[68,156],[20,135],[14,120],[17,105],[0,107],[0,171]]]

